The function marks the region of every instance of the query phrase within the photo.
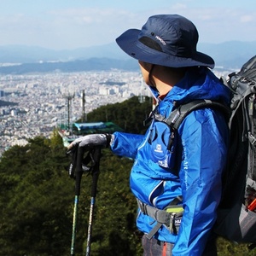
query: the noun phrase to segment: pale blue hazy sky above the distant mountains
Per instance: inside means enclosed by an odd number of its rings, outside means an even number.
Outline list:
[[[201,43],[256,41],[255,0],[0,0],[0,45],[60,50],[111,44],[159,14],[191,20]]]

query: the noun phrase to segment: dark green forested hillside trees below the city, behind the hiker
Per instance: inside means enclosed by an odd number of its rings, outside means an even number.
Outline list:
[[[116,117],[109,121],[120,126],[126,124],[126,131],[131,127],[136,132],[141,129],[137,120],[144,119],[148,109],[137,102],[137,98],[132,98],[102,109],[108,110],[108,118]],[[122,113],[112,110],[116,108],[122,109]],[[101,114],[106,111],[96,110],[92,116],[94,121],[102,120]],[[128,119],[129,116],[132,118]],[[67,174],[69,162],[56,131],[50,139],[35,137],[26,146],[9,148],[3,154],[0,159],[0,255],[70,254],[75,181]],[[113,155],[109,149],[102,150],[91,255],[143,254],[142,234],[135,225],[137,202],[129,188],[132,164],[129,159]],[[91,181],[90,173],[85,172],[79,196],[77,256],[84,255],[86,247]],[[255,255],[255,251],[248,251],[247,245],[235,245],[219,238],[218,255]]]

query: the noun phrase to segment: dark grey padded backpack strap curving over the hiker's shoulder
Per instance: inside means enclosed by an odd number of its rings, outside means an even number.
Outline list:
[[[163,121],[174,129],[177,129],[189,113],[200,108],[216,108],[222,111],[227,119],[230,118],[230,108],[223,103],[211,100],[196,100],[178,106],[166,119],[163,119]]]

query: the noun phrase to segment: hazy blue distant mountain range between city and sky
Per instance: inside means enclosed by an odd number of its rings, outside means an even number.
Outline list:
[[[243,63],[256,54],[256,41],[199,44],[198,50],[211,55],[216,68],[235,70],[240,69]],[[138,71],[137,61],[125,55],[115,43],[68,50],[22,45],[0,46],[0,63],[2,74],[80,72],[113,68]]]

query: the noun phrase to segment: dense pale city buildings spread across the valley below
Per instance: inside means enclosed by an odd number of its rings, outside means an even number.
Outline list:
[[[0,157],[29,138],[50,137],[55,127],[73,124],[102,105],[151,96],[139,72],[120,70],[2,75],[0,92],[0,101],[16,103],[0,106]]]

